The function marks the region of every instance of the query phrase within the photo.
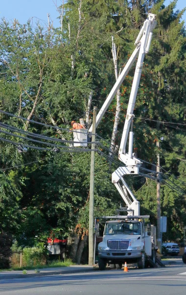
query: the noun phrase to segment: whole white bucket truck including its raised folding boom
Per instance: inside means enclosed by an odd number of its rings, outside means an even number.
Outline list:
[[[94,261],[98,255],[99,269],[103,270],[108,263],[111,268],[121,268],[124,262],[137,262],[140,268],[144,268],[145,260],[152,257],[152,243],[150,227],[145,229],[144,219],[149,216],[140,216],[140,202],[130,190],[124,177],[126,175],[138,175],[142,162],[133,153],[133,130],[134,106],[140,83],[143,59],[150,48],[152,30],[156,26],[156,16],[149,13],[140,33],[136,39],[136,48],[119,75],[113,89],[96,117],[96,126],[104,116],[108,106],[113,100],[117,89],[121,86],[128,71],[138,57],[134,80],[130,93],[127,115],[124,123],[118,158],[124,164],[112,174],[112,182],[126,204],[125,215],[103,216],[95,218],[95,247]],[[129,131],[131,126],[131,131]],[[92,132],[92,126],[89,133]],[[129,136],[128,153],[126,144]],[[154,251],[153,251],[154,253]],[[153,261],[152,261],[153,262]]]

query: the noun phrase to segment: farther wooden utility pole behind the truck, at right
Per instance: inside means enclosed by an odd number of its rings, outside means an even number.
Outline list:
[[[156,142],[156,146],[160,148],[160,142]],[[160,254],[162,254],[162,237],[161,237],[161,205],[160,205],[160,152],[157,154],[157,185],[156,185],[156,193],[157,193],[157,239],[158,239],[158,249]]]

